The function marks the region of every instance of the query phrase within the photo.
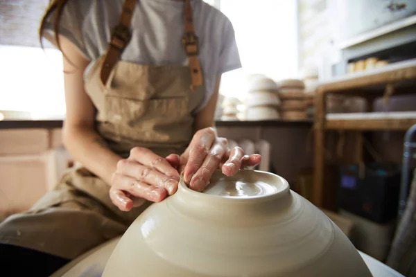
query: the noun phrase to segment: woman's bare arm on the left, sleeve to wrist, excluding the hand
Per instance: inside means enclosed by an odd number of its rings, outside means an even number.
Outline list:
[[[64,120],[63,142],[73,159],[80,162],[107,184],[121,159],[105,146],[94,131],[94,105],[84,90],[83,74],[89,61],[76,46],[60,37],[64,57],[64,91],[67,117]]]

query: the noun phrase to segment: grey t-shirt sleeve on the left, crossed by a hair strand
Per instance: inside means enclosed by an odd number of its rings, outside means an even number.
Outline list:
[[[84,44],[83,23],[85,19],[85,0],[67,1],[59,20],[59,35],[68,39],[85,58],[91,60]],[[54,10],[46,19],[44,25],[44,37],[55,46],[55,19],[57,11]]]

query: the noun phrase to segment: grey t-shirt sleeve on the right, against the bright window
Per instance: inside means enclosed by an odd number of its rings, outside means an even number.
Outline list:
[[[231,21],[227,19],[223,33],[223,45],[220,52],[219,73],[241,68],[239,48],[236,44],[234,27]]]

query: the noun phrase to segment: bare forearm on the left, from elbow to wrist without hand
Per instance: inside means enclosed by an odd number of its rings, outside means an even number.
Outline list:
[[[110,184],[121,159],[90,127],[64,127],[64,145],[76,161]]]

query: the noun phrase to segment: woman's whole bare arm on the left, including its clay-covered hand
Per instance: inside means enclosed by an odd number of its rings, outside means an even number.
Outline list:
[[[143,199],[162,201],[177,190],[179,158],[157,156],[146,148],[133,148],[128,159],[112,152],[94,130],[94,105],[84,90],[83,74],[89,62],[71,42],[61,39],[64,58],[64,89],[67,118],[64,122],[64,145],[80,162],[110,188],[110,198],[122,211],[130,211]],[[135,201],[138,200],[138,201]]]

